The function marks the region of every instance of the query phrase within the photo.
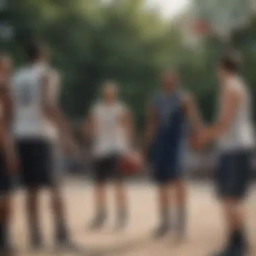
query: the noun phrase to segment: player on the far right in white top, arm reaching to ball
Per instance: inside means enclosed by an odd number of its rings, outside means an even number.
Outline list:
[[[250,92],[238,75],[239,67],[236,55],[228,54],[220,59],[217,71],[220,84],[218,119],[198,137],[201,146],[214,139],[218,144],[216,184],[229,233],[228,245],[218,256],[240,256],[247,249],[241,203],[249,187],[255,137]]]

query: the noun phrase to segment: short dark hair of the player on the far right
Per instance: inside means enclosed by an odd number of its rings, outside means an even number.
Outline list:
[[[241,58],[238,53],[228,53],[220,58],[220,67],[230,73],[237,73],[241,68]]]

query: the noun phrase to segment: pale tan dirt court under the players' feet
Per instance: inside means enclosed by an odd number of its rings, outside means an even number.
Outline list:
[[[73,240],[79,250],[56,251],[53,247],[51,207],[47,193],[42,195],[40,212],[46,250],[34,253],[28,249],[24,193],[18,191],[13,203],[13,243],[19,255],[88,255],[88,256],[206,256],[222,245],[224,224],[221,212],[208,183],[189,183],[189,230],[187,240],[176,243],[172,234],[163,241],[153,241],[150,234],[158,224],[156,191],[148,183],[128,183],[130,222],[124,231],[115,230],[115,205],[112,186],[108,188],[109,221],[100,232],[86,227],[92,218],[94,204],[92,185],[84,181],[65,182],[65,200]],[[247,226],[251,240],[251,254],[256,255],[256,186],[251,191],[247,205]]]

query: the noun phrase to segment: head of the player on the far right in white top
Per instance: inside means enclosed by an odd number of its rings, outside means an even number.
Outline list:
[[[217,75],[220,82],[232,75],[237,75],[240,71],[241,60],[238,55],[226,54],[221,57],[218,63]]]

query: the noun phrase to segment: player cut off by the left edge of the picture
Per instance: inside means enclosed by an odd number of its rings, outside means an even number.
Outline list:
[[[0,255],[10,255],[8,238],[10,218],[11,185],[17,160],[10,134],[12,103],[9,92],[11,60],[0,54]]]

